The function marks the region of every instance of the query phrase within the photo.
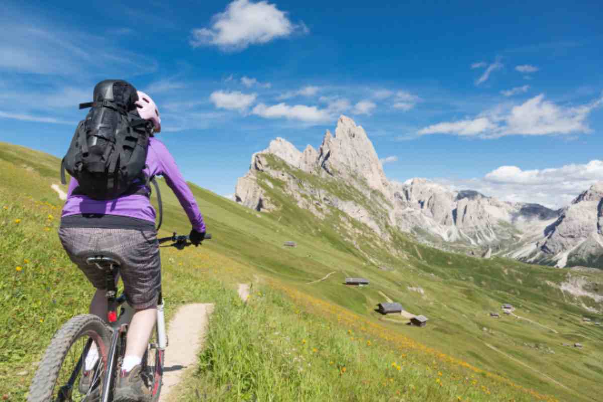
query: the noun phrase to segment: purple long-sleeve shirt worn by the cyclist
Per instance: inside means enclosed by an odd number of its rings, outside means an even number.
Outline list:
[[[185,210],[189,221],[191,221],[192,228],[199,232],[205,231],[203,215],[199,211],[191,189],[186,184],[168,149],[155,137],[151,137],[149,140],[145,173],[148,177],[163,176],[169,188],[174,191],[178,201],[180,201],[180,205]],[[99,201],[84,195],[73,195],[73,191],[77,186],[77,180],[71,178],[62,216],[93,213],[128,216],[130,218],[155,222],[155,209],[151,206],[150,199],[145,195],[134,194]]]

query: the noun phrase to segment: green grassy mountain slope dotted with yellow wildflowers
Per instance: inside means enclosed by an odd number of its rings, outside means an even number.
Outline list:
[[[56,236],[62,201],[51,184],[58,182],[57,159],[0,143],[5,400],[24,399],[52,333],[84,312],[92,294]],[[177,199],[161,185],[162,234],[187,232]],[[598,400],[603,328],[582,316],[603,317],[579,307],[595,307],[592,300],[551,286],[567,271],[444,253],[395,231],[396,250],[387,250],[362,225],[343,216],[320,221],[276,186],[273,214],[191,187],[214,239],[163,249],[168,314],[193,301],[212,301],[216,311],[200,366],[177,400]],[[346,240],[350,225],[361,250]],[[284,248],[286,240],[298,247]],[[371,284],[346,287],[346,276]],[[254,283],[248,304],[233,290],[242,281]],[[419,287],[422,294],[409,289]],[[378,315],[374,305],[385,297],[429,324]],[[502,303],[522,318],[490,318]],[[584,348],[562,346],[573,342]]]

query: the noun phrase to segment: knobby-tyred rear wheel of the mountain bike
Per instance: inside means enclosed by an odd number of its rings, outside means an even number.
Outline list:
[[[29,402],[99,400],[101,379],[109,351],[110,330],[95,315],[83,314],[66,322],[54,337],[31,382]],[[98,359],[86,385],[80,383],[87,353],[96,348]]]

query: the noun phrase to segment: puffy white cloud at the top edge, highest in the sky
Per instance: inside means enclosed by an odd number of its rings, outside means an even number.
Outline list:
[[[250,45],[268,43],[287,37],[294,31],[307,32],[303,25],[295,25],[285,12],[267,1],[235,0],[223,13],[212,17],[210,28],[192,31],[191,45],[219,46],[226,51],[241,51]]]

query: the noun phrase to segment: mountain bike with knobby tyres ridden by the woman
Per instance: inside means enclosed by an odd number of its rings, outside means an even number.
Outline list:
[[[205,239],[211,239],[206,234]],[[188,236],[174,233],[162,237],[159,243],[172,242],[160,247],[175,247],[182,250],[189,245]],[[52,338],[52,341],[31,382],[29,402],[110,402],[113,400],[113,386],[119,373],[125,353],[128,325],[134,310],[125,301],[125,295],[118,295],[119,261],[112,256],[95,254],[87,257],[89,265],[103,270],[107,275],[108,301],[107,322],[92,314],[81,314],[66,322]],[[157,300],[157,323],[142,357],[142,377],[151,389],[153,401],[159,401],[162,386],[163,362],[168,338],[164,318],[165,303],[161,289]],[[119,314],[118,314],[119,311]],[[87,371],[90,379],[84,391],[80,380],[84,362],[92,348],[96,348],[98,359],[94,368]]]

